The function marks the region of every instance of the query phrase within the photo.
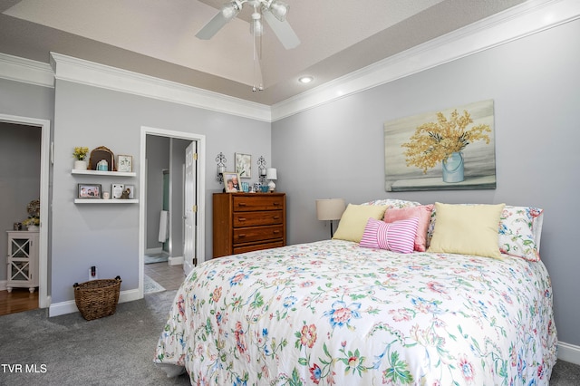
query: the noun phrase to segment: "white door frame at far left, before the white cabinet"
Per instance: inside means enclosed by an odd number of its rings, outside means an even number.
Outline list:
[[[20,117],[16,115],[0,114],[0,121],[36,126],[41,130],[40,146],[40,232],[38,241],[38,307],[46,308],[50,305],[48,296],[48,227],[49,211],[49,170],[53,147],[51,143],[51,121],[39,118]]]

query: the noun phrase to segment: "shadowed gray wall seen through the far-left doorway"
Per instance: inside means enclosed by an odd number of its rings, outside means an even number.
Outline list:
[[[0,122],[0,281],[6,279],[4,231],[23,222],[28,203],[40,197],[41,132],[34,126]]]

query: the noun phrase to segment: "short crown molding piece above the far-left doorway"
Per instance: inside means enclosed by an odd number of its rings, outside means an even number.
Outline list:
[[[35,86],[54,87],[54,73],[47,63],[0,53],[0,78]]]

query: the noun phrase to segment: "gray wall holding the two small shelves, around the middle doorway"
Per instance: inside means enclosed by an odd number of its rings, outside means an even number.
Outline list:
[[[87,279],[97,265],[100,277],[121,275],[121,290],[138,287],[139,205],[75,205],[79,182],[132,183],[131,179],[72,175],[75,146],[106,146],[116,154],[132,155],[140,174],[140,128],[175,130],[206,135],[206,258],[211,249],[211,194],[221,190],[215,180],[216,155],[223,151],[232,168],[234,153],[270,158],[270,124],[177,103],[153,100],[74,82],[55,83],[53,165],[53,286],[52,301],[73,300],[73,283]]]

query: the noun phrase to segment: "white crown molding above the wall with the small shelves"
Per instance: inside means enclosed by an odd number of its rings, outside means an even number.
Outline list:
[[[55,79],[78,82],[118,92],[128,92],[161,101],[185,104],[200,109],[271,121],[270,108],[218,92],[209,92],[177,82],[169,82],[138,72],[92,63],[60,53],[51,53]]]

